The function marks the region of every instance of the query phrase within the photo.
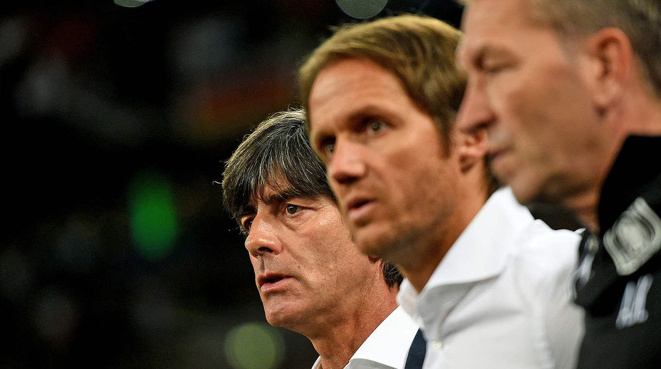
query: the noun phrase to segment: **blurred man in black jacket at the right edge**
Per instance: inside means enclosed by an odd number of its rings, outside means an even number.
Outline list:
[[[584,234],[579,368],[661,368],[661,2],[475,0],[457,118],[522,203]]]

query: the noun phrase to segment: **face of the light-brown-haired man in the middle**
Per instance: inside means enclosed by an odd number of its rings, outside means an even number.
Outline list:
[[[369,59],[332,63],[315,79],[309,114],[311,144],[363,253],[401,263],[412,244],[451,227],[459,160],[393,73]]]

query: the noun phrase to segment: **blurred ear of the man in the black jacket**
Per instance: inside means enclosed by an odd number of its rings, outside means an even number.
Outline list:
[[[584,44],[582,71],[598,108],[605,109],[621,95],[635,67],[633,48],[619,28],[602,28]]]

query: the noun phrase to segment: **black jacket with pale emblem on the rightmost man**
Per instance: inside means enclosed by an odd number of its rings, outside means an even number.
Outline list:
[[[602,187],[600,236],[585,232],[576,303],[579,369],[661,368],[661,137],[629,137]]]

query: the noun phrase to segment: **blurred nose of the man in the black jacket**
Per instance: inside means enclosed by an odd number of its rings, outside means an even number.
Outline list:
[[[465,133],[472,133],[476,129],[488,127],[493,121],[494,114],[484,88],[479,81],[469,79],[457,113],[457,128]]]

